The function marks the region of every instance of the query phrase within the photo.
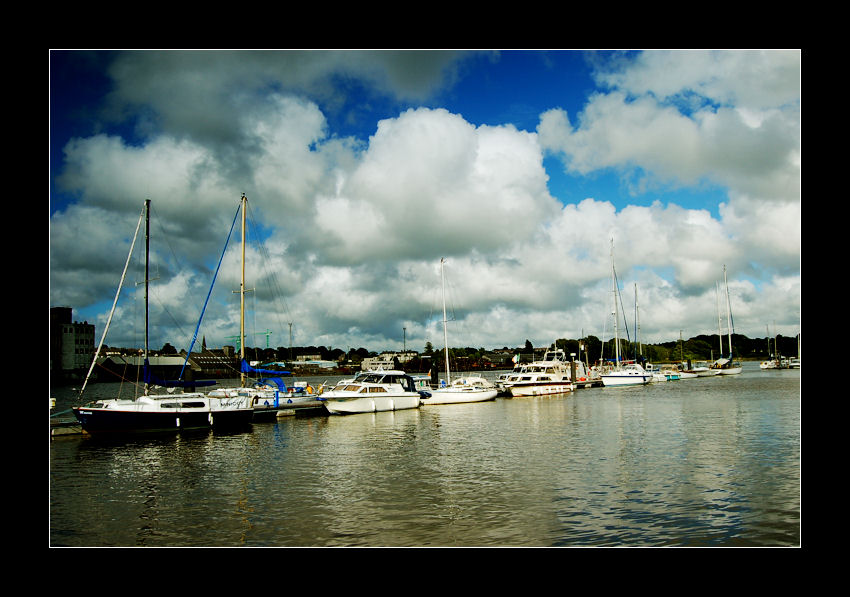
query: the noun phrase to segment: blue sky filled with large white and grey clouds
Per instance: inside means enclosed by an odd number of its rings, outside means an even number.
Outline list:
[[[98,340],[150,199],[151,347],[208,296],[197,342],[235,344],[243,193],[248,346],[440,348],[443,288],[451,346],[608,339],[612,263],[621,337],[726,334],[727,284],[735,333],[801,331],[799,50],[53,50],[49,79],[49,302]],[[141,345],[138,262],[109,346]]]

